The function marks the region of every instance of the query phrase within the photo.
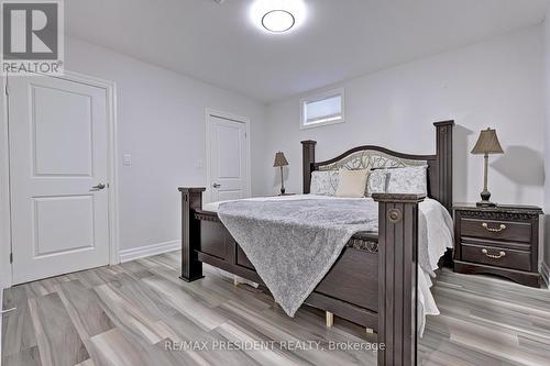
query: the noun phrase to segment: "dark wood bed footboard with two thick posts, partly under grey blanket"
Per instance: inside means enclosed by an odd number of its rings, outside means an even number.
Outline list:
[[[260,277],[248,263],[244,253],[239,252],[240,247],[219,222],[217,214],[201,210],[205,188],[179,188],[179,191],[182,192],[180,278],[186,281],[202,278],[202,262],[206,262],[241,277],[258,281]],[[380,210],[376,329],[377,341],[384,344],[384,348],[378,351],[378,365],[416,365],[418,203],[425,199],[425,196],[373,195],[373,198],[378,202]],[[216,242],[221,245],[201,247],[201,243],[207,245],[207,243]],[[346,249],[354,251],[355,248]],[[230,263],[228,258],[231,259]],[[338,262],[334,266],[337,265]],[[327,303],[328,307],[333,306],[333,301],[339,301],[332,297],[323,297],[322,292],[317,291],[309,300],[317,304],[330,300],[330,303]],[[352,304],[346,301],[341,302],[342,307],[346,306],[351,309],[350,311],[359,309],[358,307],[355,307],[358,309],[352,309]],[[328,308],[324,310],[330,311]],[[373,317],[376,317],[376,311],[373,312],[373,310],[362,309],[365,314],[356,312],[358,319],[366,317],[375,321],[376,318]]]

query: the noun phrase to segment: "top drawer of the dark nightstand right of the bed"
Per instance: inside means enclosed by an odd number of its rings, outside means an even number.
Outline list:
[[[529,222],[461,219],[460,235],[530,243],[531,229]]]

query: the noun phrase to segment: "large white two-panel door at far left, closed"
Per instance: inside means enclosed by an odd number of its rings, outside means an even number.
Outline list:
[[[106,89],[8,84],[13,282],[109,264]]]

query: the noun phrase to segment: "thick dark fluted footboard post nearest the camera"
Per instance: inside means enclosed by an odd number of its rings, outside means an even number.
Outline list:
[[[424,195],[377,193],[380,366],[417,364],[418,203]]]

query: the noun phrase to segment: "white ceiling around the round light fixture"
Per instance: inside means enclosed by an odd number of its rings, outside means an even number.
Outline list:
[[[72,36],[263,102],[541,22],[549,0],[304,0],[267,34],[253,0],[69,0]]]

